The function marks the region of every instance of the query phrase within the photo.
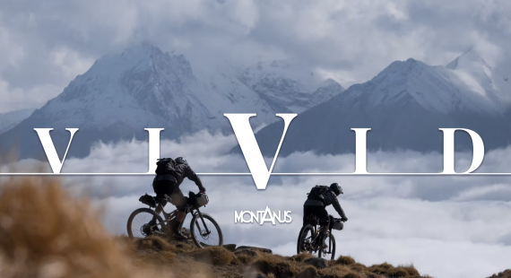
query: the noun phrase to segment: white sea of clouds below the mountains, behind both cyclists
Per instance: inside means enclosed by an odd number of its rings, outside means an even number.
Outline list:
[[[162,141],[162,157],[183,156],[196,172],[247,173],[247,163],[230,153],[233,135],[205,132]],[[284,141],[285,143],[285,141]],[[84,159],[69,158],[63,172],[145,172],[148,143],[99,143]],[[478,172],[511,172],[511,148],[488,152]],[[456,169],[468,169],[472,156],[456,154]],[[272,159],[267,159],[270,165]],[[369,172],[440,172],[439,153],[371,152]],[[40,162],[20,161],[18,169]],[[49,166],[44,165],[48,168]],[[273,172],[351,172],[354,155],[294,153],[278,158]],[[126,221],[152,194],[152,176],[63,177],[74,195],[91,196],[113,234],[126,234]],[[203,176],[210,196],[203,212],[220,224],[224,243],[272,248],[293,255],[302,224],[302,205],[311,187],[338,182],[349,221],[334,231],[336,255],[362,264],[413,264],[434,277],[486,277],[509,268],[511,257],[511,177],[506,176],[273,176],[257,190],[251,176]],[[185,181],[181,189],[198,191]],[[234,223],[235,211],[291,211],[289,224]],[[172,209],[171,206],[168,210]],[[332,207],[328,211],[336,215]],[[189,218],[188,218],[189,219]]]

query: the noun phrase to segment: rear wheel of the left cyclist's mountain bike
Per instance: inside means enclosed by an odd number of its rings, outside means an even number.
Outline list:
[[[143,239],[151,236],[156,230],[165,230],[165,224],[160,215],[152,209],[139,208],[129,216],[126,229],[130,239]]]

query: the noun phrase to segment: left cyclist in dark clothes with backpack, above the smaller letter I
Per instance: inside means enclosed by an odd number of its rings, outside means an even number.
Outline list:
[[[186,217],[186,199],[183,192],[181,192],[181,189],[179,189],[179,185],[181,185],[185,178],[188,178],[195,182],[195,185],[199,187],[201,193],[205,193],[206,188],[203,186],[201,179],[195,174],[194,170],[190,168],[188,162],[184,158],[178,157],[173,161],[175,161],[175,163],[171,165],[172,172],[167,174],[157,173],[156,177],[154,177],[152,181],[152,188],[154,189],[154,193],[156,193],[157,198],[165,199],[165,195],[169,195],[172,199],[172,204],[174,204],[178,209],[178,215],[176,216],[176,223],[174,224],[173,230],[174,239],[187,239],[180,230],[181,223]],[[160,214],[165,204],[167,204],[167,201],[160,201],[160,205],[158,205],[154,211]],[[155,224],[156,220],[154,219],[153,222]]]

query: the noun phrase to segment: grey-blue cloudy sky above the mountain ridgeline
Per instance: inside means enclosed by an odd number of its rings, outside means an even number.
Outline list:
[[[39,108],[100,56],[141,42],[195,67],[287,59],[342,85],[394,60],[445,65],[468,48],[510,65],[511,3],[501,1],[0,2],[0,113]]]

